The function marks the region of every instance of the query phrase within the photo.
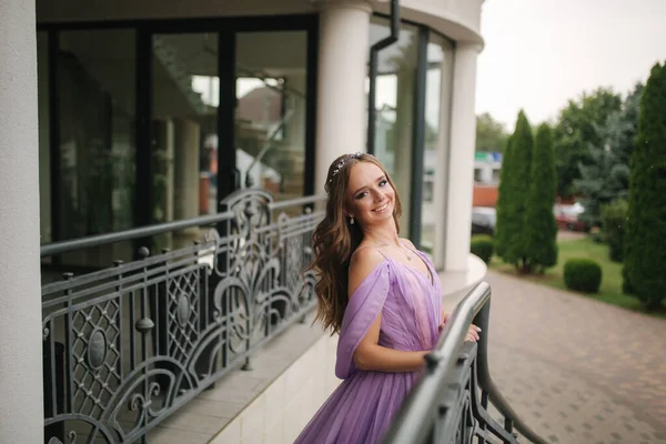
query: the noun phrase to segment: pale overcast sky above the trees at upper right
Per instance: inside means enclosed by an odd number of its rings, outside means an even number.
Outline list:
[[[486,0],[476,111],[513,129],[597,87],[626,94],[666,61],[666,0]]]

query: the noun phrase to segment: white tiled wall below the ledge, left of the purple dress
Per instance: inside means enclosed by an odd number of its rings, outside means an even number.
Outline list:
[[[322,335],[210,443],[292,444],[340,384],[336,345],[337,335]]]

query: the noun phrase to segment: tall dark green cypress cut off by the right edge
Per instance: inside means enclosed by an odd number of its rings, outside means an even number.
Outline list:
[[[640,98],[632,153],[624,286],[647,309],[666,296],[666,65],[655,64]]]

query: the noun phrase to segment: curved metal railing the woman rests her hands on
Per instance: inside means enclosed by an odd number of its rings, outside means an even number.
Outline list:
[[[482,282],[451,314],[425,373],[383,438],[384,444],[518,443],[546,444],[514,412],[488,371],[491,287]],[[482,329],[477,343],[463,343],[470,324]],[[488,412],[488,402],[504,424]]]

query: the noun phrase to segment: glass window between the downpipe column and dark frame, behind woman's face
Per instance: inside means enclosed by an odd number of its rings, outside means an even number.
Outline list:
[[[389,32],[387,19],[371,19],[371,44]],[[380,51],[375,83],[375,155],[384,163],[400,191],[402,235],[410,232],[417,47],[418,29],[402,23],[397,42]]]

